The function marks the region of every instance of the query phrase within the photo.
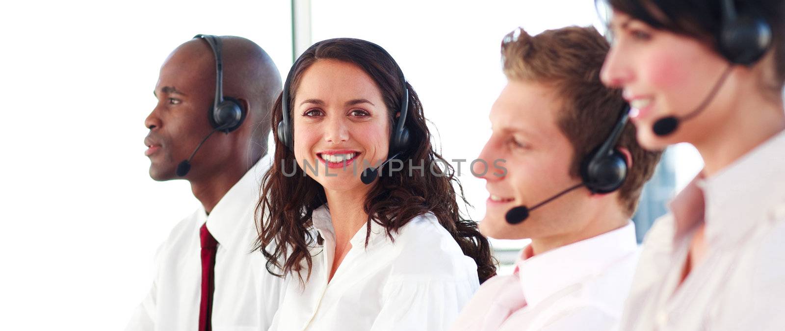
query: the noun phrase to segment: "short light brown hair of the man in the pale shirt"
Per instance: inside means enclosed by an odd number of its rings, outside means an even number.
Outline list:
[[[580,177],[583,158],[608,138],[625,102],[620,89],[610,89],[600,81],[610,45],[594,27],[562,27],[534,37],[520,29],[506,40],[513,35],[517,40],[502,44],[504,74],[510,80],[553,86],[561,100],[557,125],[575,150],[570,173]],[[619,200],[632,216],[662,152],[638,145],[632,123],[625,126],[617,146],[630,151],[633,160],[619,188]]]

